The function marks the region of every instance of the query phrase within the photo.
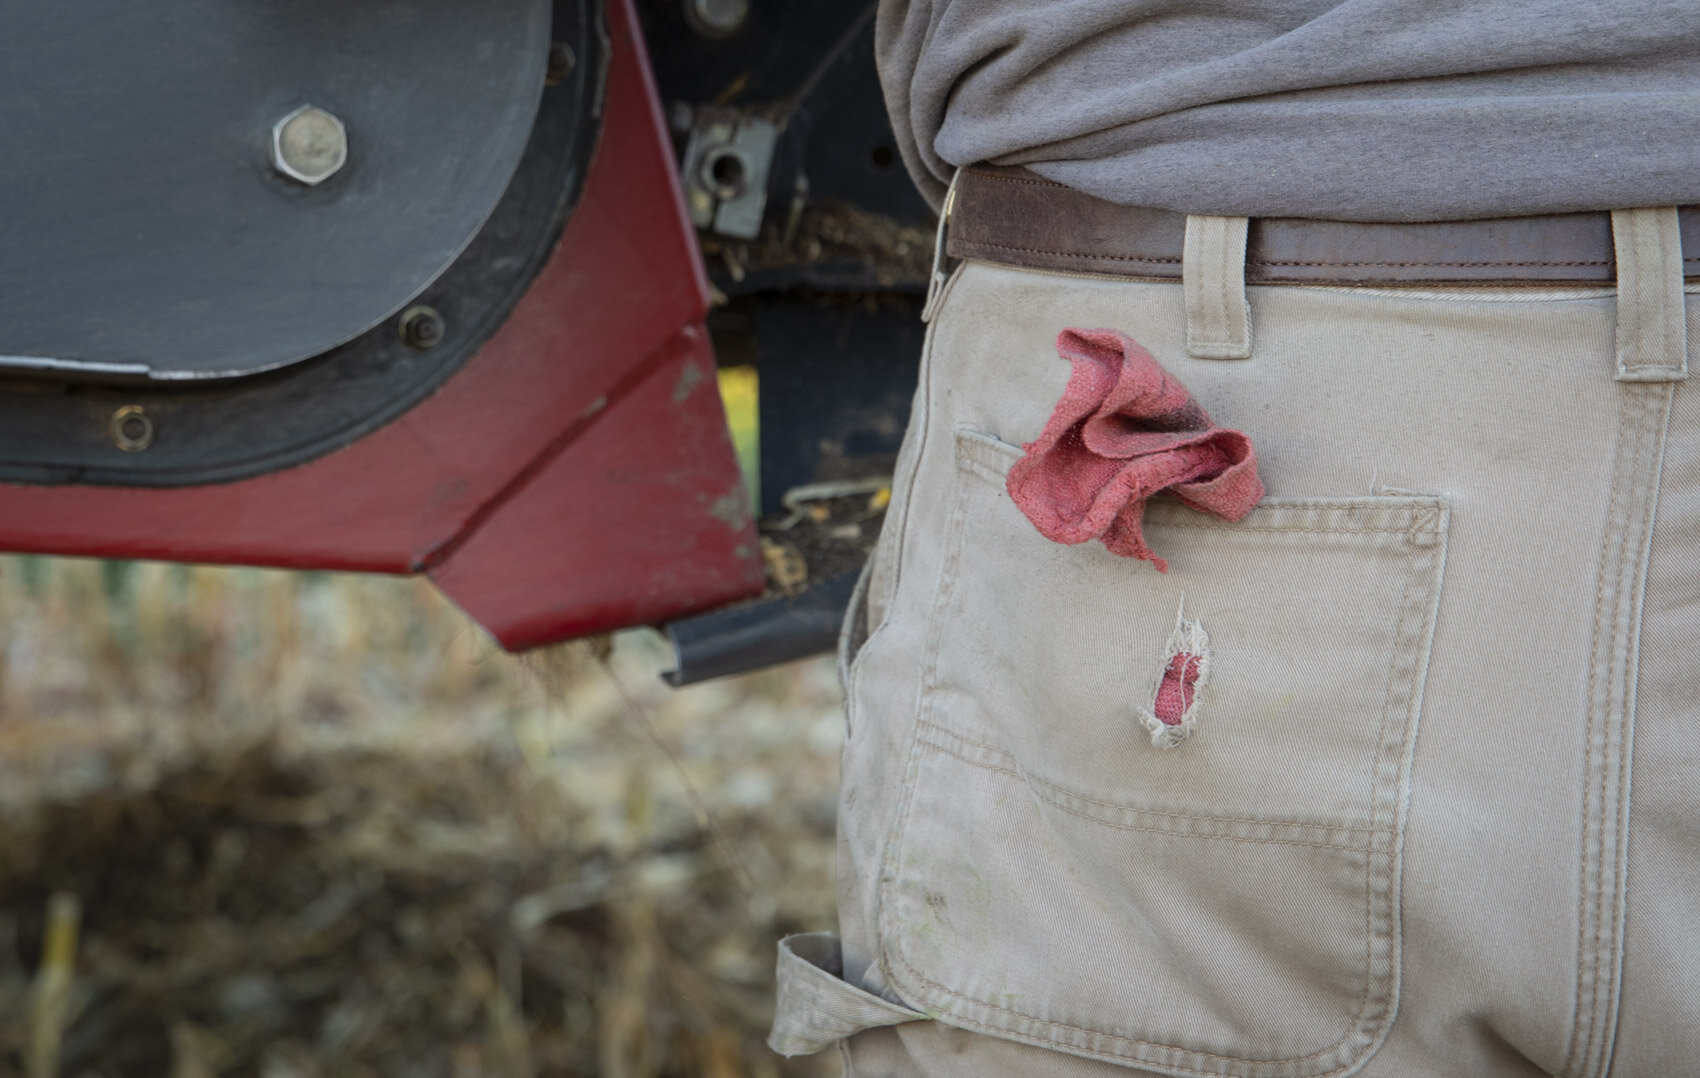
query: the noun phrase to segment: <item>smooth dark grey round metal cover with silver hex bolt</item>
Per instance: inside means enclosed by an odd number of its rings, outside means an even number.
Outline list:
[[[547,0],[0,0],[0,372],[230,379],[435,281],[520,162]],[[335,116],[306,185],[272,129]]]

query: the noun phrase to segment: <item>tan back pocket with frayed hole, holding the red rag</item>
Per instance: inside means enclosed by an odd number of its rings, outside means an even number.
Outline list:
[[[881,959],[944,1020],[1171,1075],[1355,1069],[1399,988],[1436,496],[1148,508],[1158,573],[1057,546],[959,430]],[[1142,721],[1185,614],[1197,735]]]

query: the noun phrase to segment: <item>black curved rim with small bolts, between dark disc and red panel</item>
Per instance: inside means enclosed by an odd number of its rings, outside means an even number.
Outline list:
[[[530,141],[490,219],[393,316],[313,359],[238,379],[105,383],[0,371],[0,483],[184,486],[289,468],[348,445],[444,384],[546,264],[600,129],[607,31],[595,0],[554,0]],[[430,316],[425,316],[428,311]],[[114,420],[141,408],[146,447]]]

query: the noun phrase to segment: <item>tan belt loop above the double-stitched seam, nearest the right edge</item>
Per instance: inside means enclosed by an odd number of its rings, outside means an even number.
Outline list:
[[[1683,236],[1676,209],[1613,209],[1617,250],[1617,381],[1688,377]]]

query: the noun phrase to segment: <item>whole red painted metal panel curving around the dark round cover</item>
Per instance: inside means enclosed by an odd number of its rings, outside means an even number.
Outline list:
[[[762,588],[714,362],[707,281],[631,0],[607,5],[604,131],[513,316],[405,417],[309,464],[216,486],[0,485],[0,549],[430,571],[508,648]],[[673,389],[694,366],[700,388]],[[688,379],[687,379],[688,381]]]

